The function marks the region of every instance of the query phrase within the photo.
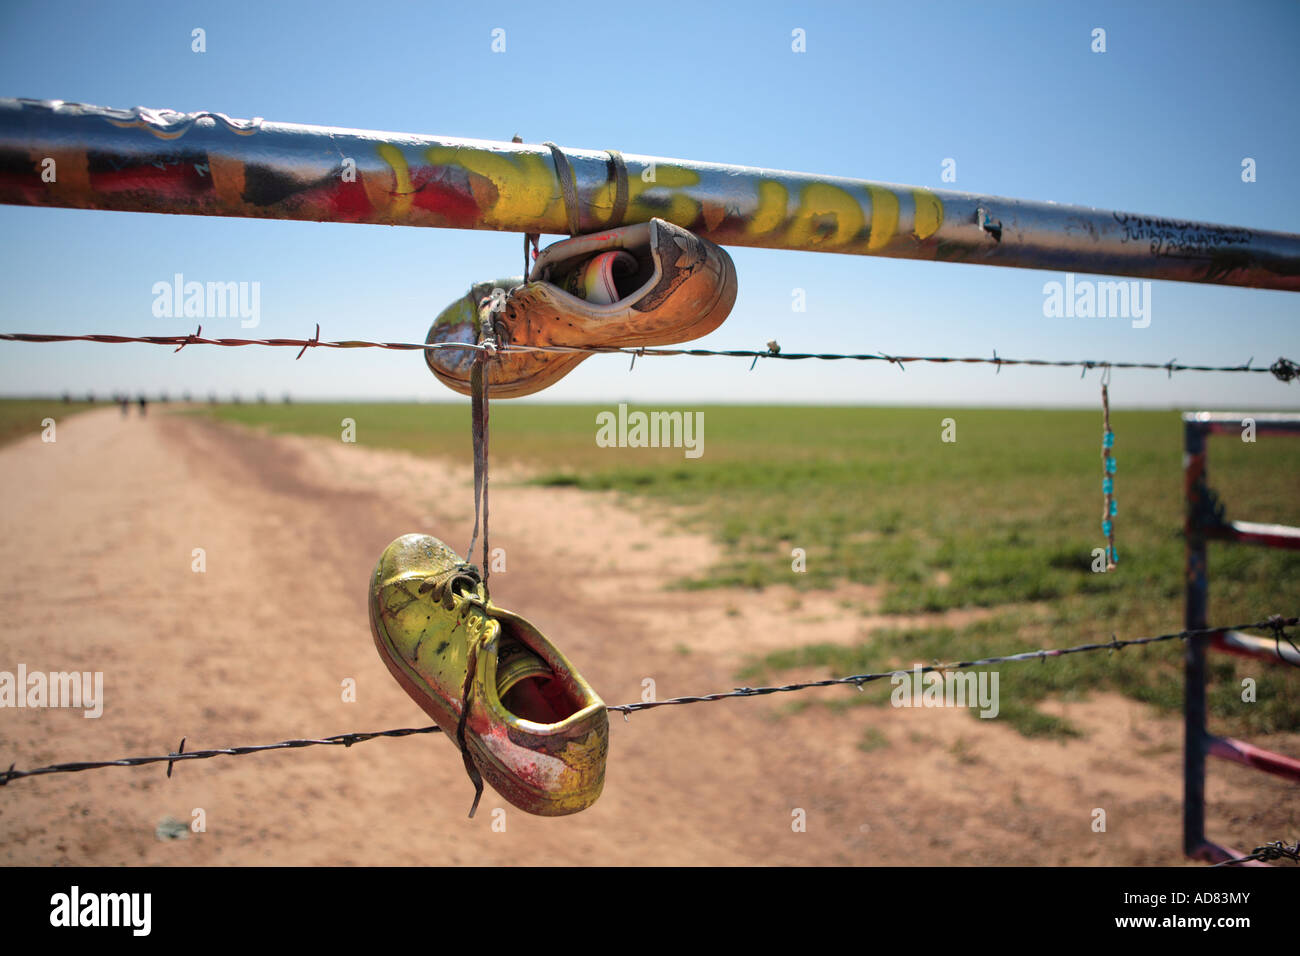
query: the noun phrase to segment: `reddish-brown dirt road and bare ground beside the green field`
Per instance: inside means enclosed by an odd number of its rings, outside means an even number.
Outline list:
[[[361,436],[364,441],[364,436]],[[845,594],[689,594],[708,541],[572,489],[494,472],[498,604],[530,618],[610,702],[731,688],[749,652],[853,640]],[[365,584],[395,536],[463,549],[463,467],[269,438],[186,416],[90,412],[0,449],[0,670],[104,672],[104,715],[0,710],[0,760],[53,761],[424,726],[372,644]],[[194,549],[207,570],[191,570]],[[862,594],[849,594],[861,600]],[[688,653],[689,652],[689,653]],[[356,702],[341,685],[356,680]],[[850,691],[809,692],[832,700]],[[788,698],[786,698],[788,700]],[[490,791],[474,821],[438,737],[108,769],[0,790],[5,864],[1178,864],[1180,727],[1115,696],[1070,704],[1083,740],[1026,740],[957,710],[774,697],[611,722],[604,795],[532,818]],[[1058,710],[1062,709],[1057,705]],[[871,730],[874,728],[874,731]],[[875,734],[876,749],[859,743]],[[1269,744],[1296,752],[1300,740]],[[1213,835],[1300,825],[1282,782],[1216,765]],[[491,810],[507,806],[506,831]],[[207,831],[160,840],[166,817]],[[796,808],[806,831],[792,830]],[[1093,832],[1093,809],[1108,814]]]

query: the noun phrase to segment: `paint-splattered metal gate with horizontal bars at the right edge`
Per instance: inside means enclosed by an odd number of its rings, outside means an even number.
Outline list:
[[[1209,602],[1208,541],[1238,541],[1265,548],[1300,549],[1300,528],[1282,524],[1230,522],[1206,479],[1206,438],[1222,433],[1240,437],[1247,421],[1254,434],[1300,436],[1300,416],[1188,412],[1183,415],[1183,483],[1187,538],[1187,630],[1205,627]],[[1270,640],[1240,631],[1192,637],[1184,653],[1183,700],[1183,851],[1195,860],[1222,862],[1242,856],[1205,836],[1205,757],[1218,757],[1300,782],[1300,760],[1265,750],[1243,740],[1219,737],[1206,727],[1205,654],[1209,649],[1261,661],[1300,666],[1300,652],[1280,637]]]

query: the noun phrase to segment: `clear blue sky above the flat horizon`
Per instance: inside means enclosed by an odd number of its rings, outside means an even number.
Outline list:
[[[207,52],[190,34],[207,31]],[[493,53],[491,30],[507,49]],[[807,52],[793,53],[802,29]],[[1105,53],[1091,33],[1106,30]],[[0,95],[213,109],[796,169],[1300,232],[1300,5],[8,3]],[[1243,183],[1243,157],[1258,177]],[[957,181],[940,182],[944,159]],[[174,273],[259,281],[256,334],[421,341],[514,234],[0,207],[0,328],[178,334]],[[699,345],[1234,363],[1300,359],[1300,297],[1152,284],[1152,323],[1046,319],[1060,273],[731,250]],[[806,290],[807,311],[790,308]],[[205,333],[239,336],[237,319]],[[1096,373],[595,356],[541,401],[1076,405]],[[463,401],[413,352],[0,343],[0,392]],[[1115,372],[1112,401],[1300,407],[1269,376]]]

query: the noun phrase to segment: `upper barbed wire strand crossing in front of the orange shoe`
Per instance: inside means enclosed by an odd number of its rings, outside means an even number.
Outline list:
[[[194,334],[186,336],[112,336],[112,334],[55,334],[32,332],[5,332],[0,333],[0,341],[8,342],[99,342],[104,345],[164,345],[174,346],[176,351],[191,345],[214,345],[224,347],[266,346],[280,349],[298,349],[298,356],[308,349],[390,349],[395,351],[438,351],[442,349],[462,349],[469,351],[504,352],[551,352],[551,354],[578,354],[593,355],[612,354],[630,355],[632,363],[641,356],[697,356],[697,358],[737,358],[751,359],[750,368],[759,359],[783,359],[786,362],[802,362],[806,359],[822,362],[888,362],[905,371],[910,363],[928,364],[984,364],[996,365],[1002,371],[1002,365],[1034,365],[1043,368],[1080,368],[1086,375],[1089,368],[1141,368],[1169,372],[1248,372],[1254,375],[1271,375],[1279,381],[1290,382],[1300,377],[1300,363],[1287,358],[1278,358],[1271,365],[1254,365],[1254,356],[1247,359],[1242,365],[1188,365],[1180,364],[1176,359],[1169,362],[1106,362],[1100,359],[1008,359],[993,350],[993,356],[958,356],[958,355],[890,355],[888,352],[785,352],[776,342],[770,342],[763,351],[750,349],[668,349],[668,347],[629,347],[629,346],[562,346],[562,345],[502,345],[490,346],[474,342],[372,342],[364,339],[326,341],[320,337],[320,325],[311,338],[208,338],[203,334],[203,326]]]

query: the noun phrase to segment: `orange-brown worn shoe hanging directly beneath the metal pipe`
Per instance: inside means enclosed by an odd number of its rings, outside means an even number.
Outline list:
[[[727,250],[653,219],[547,246],[526,282],[476,284],[434,319],[425,341],[478,343],[485,324],[494,321],[494,337],[504,346],[675,345],[716,329],[734,303],[736,267]],[[471,394],[476,351],[433,349],[424,355],[443,384]],[[588,352],[506,349],[488,363],[490,394],[540,392],[585,358]]]

